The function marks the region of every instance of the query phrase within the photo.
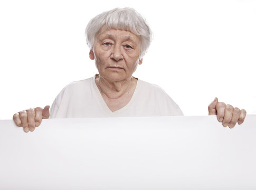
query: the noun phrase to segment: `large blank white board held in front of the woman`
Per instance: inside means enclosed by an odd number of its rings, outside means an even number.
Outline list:
[[[0,189],[256,189],[256,115],[0,120]]]

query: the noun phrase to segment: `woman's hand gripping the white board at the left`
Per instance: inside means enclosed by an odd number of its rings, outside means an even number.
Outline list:
[[[50,117],[50,106],[42,108],[30,108],[17,112],[13,115],[13,120],[17,126],[23,127],[25,132],[35,130],[35,127],[41,125],[42,119]]]

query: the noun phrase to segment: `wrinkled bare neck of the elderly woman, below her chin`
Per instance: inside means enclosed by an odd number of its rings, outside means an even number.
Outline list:
[[[137,79],[131,77],[122,81],[109,81],[100,77],[100,75],[96,75],[95,82],[102,97],[106,96],[109,99],[118,99],[134,92]]]

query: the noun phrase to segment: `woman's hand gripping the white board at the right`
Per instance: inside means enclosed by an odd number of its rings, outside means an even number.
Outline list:
[[[224,102],[219,102],[217,98],[208,106],[209,115],[217,115],[218,121],[222,122],[224,127],[233,128],[238,122],[242,124],[246,111],[244,109],[233,108],[231,105],[226,105]]]

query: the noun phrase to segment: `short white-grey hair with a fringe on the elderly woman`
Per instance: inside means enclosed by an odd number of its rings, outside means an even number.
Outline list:
[[[86,27],[86,40],[90,49],[103,26],[105,31],[117,29],[138,35],[141,39],[140,58],[145,55],[152,40],[152,32],[145,18],[134,8],[114,8],[92,18]]]

